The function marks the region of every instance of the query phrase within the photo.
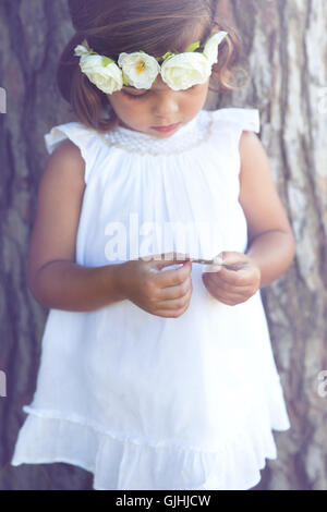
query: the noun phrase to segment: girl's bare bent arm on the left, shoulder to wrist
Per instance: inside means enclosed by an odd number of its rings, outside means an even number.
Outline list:
[[[64,141],[49,157],[39,184],[27,278],[33,296],[47,308],[86,312],[124,298],[122,265],[74,263],[84,172],[80,149]]]

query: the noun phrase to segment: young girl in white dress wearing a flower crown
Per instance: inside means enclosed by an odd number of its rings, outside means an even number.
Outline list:
[[[215,3],[69,2],[58,80],[78,121],[45,136],[28,282],[50,313],[12,465],[250,489],[290,427],[261,289],[294,240],[258,111],[203,110],[240,54]]]

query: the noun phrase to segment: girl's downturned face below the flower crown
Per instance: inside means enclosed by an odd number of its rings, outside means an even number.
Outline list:
[[[167,138],[203,108],[208,87],[209,78],[205,84],[185,90],[172,90],[159,74],[150,89],[123,86],[121,90],[107,96],[120,125],[157,138]],[[178,125],[169,131],[162,130],[172,124]],[[158,126],[161,126],[161,131],[156,130]]]

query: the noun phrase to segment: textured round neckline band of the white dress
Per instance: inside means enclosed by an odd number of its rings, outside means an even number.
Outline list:
[[[199,110],[191,121],[165,138],[157,138],[121,125],[111,132],[98,132],[98,134],[108,146],[118,147],[128,153],[153,156],[174,155],[190,150],[206,141],[209,137],[211,124],[210,112]]]

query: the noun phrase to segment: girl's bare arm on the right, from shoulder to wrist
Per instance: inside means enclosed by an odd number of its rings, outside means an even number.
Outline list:
[[[265,148],[254,132],[240,141],[240,204],[247,221],[246,254],[258,265],[261,288],[275,281],[295,254],[294,235],[272,181]]]

